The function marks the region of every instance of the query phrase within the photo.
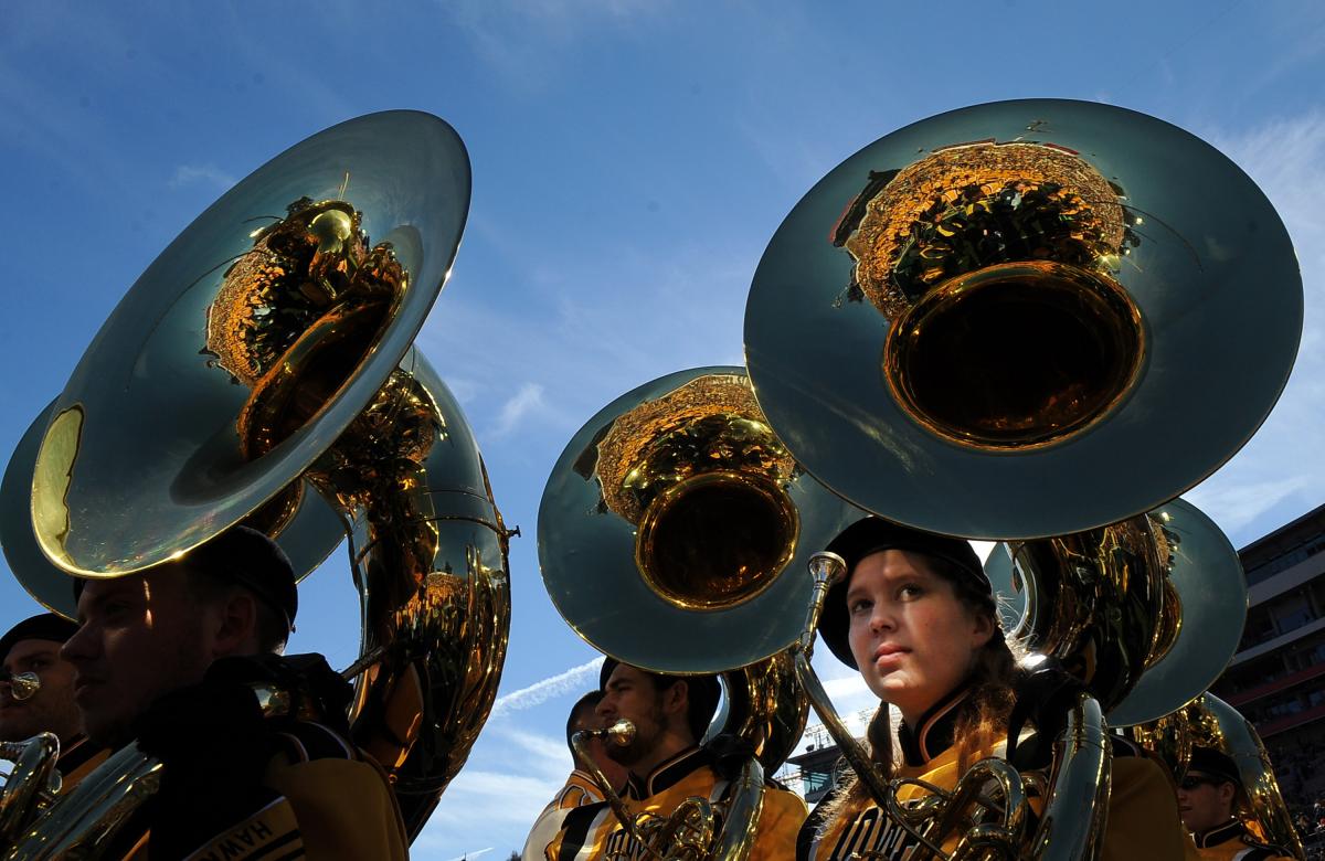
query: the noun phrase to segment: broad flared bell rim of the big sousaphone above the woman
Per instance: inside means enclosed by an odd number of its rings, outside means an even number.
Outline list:
[[[906,415],[880,372],[889,321],[852,301],[853,261],[829,238],[872,171],[987,139],[1073,150],[1124,189],[1129,212],[1145,216],[1140,245],[1113,276],[1146,327],[1136,387],[1106,421],[1024,453],[974,450]],[[1116,523],[1199,483],[1268,415],[1301,325],[1288,233],[1223,154],[1136,111],[1024,99],[920,121],[829,171],[768,242],[746,305],[745,340],[759,407],[822,483],[906,526],[1011,540]],[[1162,428],[1150,420],[1157,415],[1166,417]],[[1129,469],[1118,469],[1120,458]]]

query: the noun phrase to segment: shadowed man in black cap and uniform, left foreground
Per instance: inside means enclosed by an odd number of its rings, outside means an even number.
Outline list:
[[[386,775],[347,740],[348,685],[321,656],[280,654],[294,580],[280,547],[240,526],[180,560],[78,582],[62,656],[87,734],[163,763],[107,857],[407,857]],[[257,687],[289,694],[288,714],[264,715]]]

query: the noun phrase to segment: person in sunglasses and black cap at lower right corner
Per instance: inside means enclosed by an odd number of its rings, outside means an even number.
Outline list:
[[[1238,764],[1212,747],[1192,747],[1191,764],[1178,784],[1178,812],[1202,858],[1291,861],[1292,856],[1256,840],[1238,819],[1246,795]]]

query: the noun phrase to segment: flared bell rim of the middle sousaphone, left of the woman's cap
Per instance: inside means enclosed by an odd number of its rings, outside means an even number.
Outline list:
[[[644,583],[635,564],[636,525],[602,506],[592,477],[596,444],[612,423],[705,375],[745,378],[745,368],[676,371],[625,392],[571,437],[538,509],[538,562],[547,595],[566,624],[594,649],[653,673],[725,672],[768,658],[800,634],[814,536],[823,543],[863,514],[802,474],[787,487],[800,536],[791,563],[758,596],[726,611],[676,607]]]

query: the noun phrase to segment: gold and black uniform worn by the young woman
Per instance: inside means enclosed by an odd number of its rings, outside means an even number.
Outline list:
[[[901,726],[905,764],[900,778],[918,778],[942,789],[951,789],[961,780],[958,748],[953,743],[957,706],[966,698],[958,690],[926,713],[920,730]],[[988,744],[973,752],[970,762],[986,756],[1002,756],[1004,744]],[[1034,751],[1036,744],[1023,742],[1023,751]],[[1034,755],[1034,752],[1032,752]],[[1022,758],[1018,756],[1018,760]],[[1018,762],[1022,768],[1023,763]],[[1027,766],[1028,767],[1028,766]],[[925,791],[908,784],[898,792],[902,804],[922,797]],[[918,845],[914,837],[890,820],[878,805],[869,803],[859,809],[840,809],[829,820],[835,796],[829,795],[815,808],[796,840],[798,861],[847,861],[853,854],[880,861],[904,861]],[[1036,813],[1044,809],[1043,797],[1031,797]],[[1032,823],[1034,828],[1034,823]],[[951,850],[958,841],[951,836],[943,849]],[[1104,833],[1104,861],[1179,860],[1187,857],[1187,840],[1178,819],[1178,803],[1173,787],[1161,767],[1126,742],[1114,744],[1113,780],[1109,797],[1109,820]]]

